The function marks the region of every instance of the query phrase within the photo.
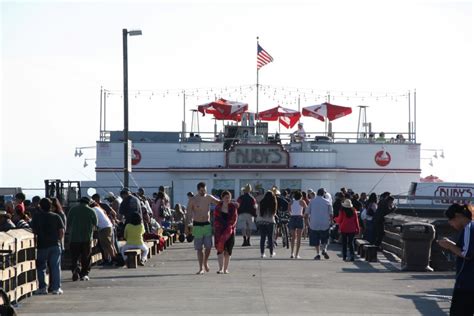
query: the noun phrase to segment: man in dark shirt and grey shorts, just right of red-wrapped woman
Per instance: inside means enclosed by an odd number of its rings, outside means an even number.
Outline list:
[[[242,236],[244,237],[244,242],[242,247],[250,246],[253,218],[257,216],[257,200],[250,195],[250,192],[252,192],[252,186],[247,184],[244,187],[244,194],[237,199],[237,203],[239,203],[239,221],[243,225]]]

